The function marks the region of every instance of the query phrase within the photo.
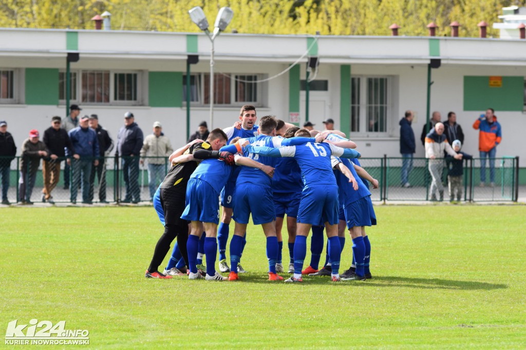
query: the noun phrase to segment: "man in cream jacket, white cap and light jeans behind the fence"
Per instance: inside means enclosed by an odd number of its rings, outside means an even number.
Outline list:
[[[199,128],[201,128],[201,126],[199,126]],[[206,132],[208,133],[208,131]],[[166,176],[167,168],[169,168],[167,167],[168,157],[173,151],[174,149],[171,147],[170,139],[164,136],[163,126],[158,121],[154,122],[154,133],[146,136],[143,142],[143,148],[140,150],[141,157],[160,157],[147,158],[150,202],[154,200],[155,191]],[[144,159],[141,159],[140,163],[143,164]]]

